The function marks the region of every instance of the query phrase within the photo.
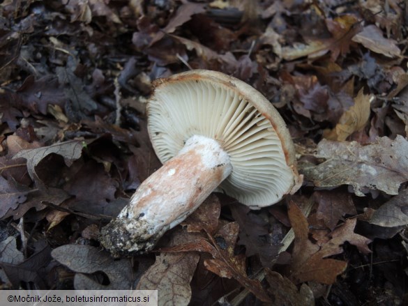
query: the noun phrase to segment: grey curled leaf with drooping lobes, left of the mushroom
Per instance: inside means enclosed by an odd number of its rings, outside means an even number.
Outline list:
[[[64,162],[69,167],[73,164],[74,160],[77,160],[82,155],[83,148],[82,141],[70,140],[61,142],[59,144],[52,144],[51,146],[43,146],[41,148],[32,148],[29,150],[23,150],[20,153],[14,155],[14,158],[25,158],[27,160],[27,169],[33,181],[38,186],[43,185],[41,179],[36,174],[36,165],[48,155],[54,153],[61,155]]]

